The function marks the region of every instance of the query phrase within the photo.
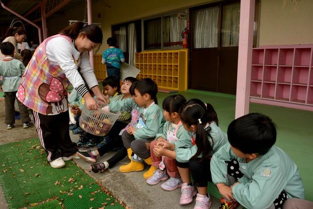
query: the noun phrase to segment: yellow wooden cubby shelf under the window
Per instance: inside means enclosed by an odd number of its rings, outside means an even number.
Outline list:
[[[186,91],[187,58],[187,49],[135,53],[135,66],[140,70],[137,78],[151,78],[161,89]]]

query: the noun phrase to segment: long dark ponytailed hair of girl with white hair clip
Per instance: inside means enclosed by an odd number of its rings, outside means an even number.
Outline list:
[[[204,105],[204,104],[203,104]],[[206,109],[203,109],[202,105],[195,103],[194,101],[188,101],[180,110],[180,118],[181,121],[188,126],[191,125],[197,125],[197,129],[195,131],[196,133],[196,145],[198,147],[198,150],[196,154],[191,158],[195,159],[200,154],[202,154],[201,161],[203,161],[205,158],[208,158],[212,156],[213,153],[213,140],[212,144],[207,139],[208,137],[211,137],[210,135],[210,126],[208,126],[207,130],[204,130],[204,127],[206,124],[209,123],[207,119],[207,111]]]

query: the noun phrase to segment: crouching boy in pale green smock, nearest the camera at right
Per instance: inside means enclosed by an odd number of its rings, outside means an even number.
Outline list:
[[[288,198],[304,199],[299,170],[274,146],[276,128],[268,116],[239,117],[229,124],[227,135],[229,143],[211,160],[213,183],[229,201],[222,199],[221,207],[240,203],[249,209],[278,209]]]

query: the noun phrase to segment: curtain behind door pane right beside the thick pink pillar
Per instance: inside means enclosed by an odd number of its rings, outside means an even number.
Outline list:
[[[223,7],[222,46],[238,46],[240,2]]]

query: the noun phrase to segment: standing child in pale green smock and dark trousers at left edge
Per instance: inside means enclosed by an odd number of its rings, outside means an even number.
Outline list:
[[[25,69],[23,63],[20,60],[13,59],[14,46],[10,42],[4,42],[0,44],[1,53],[5,56],[3,61],[0,61],[0,76],[3,76],[2,89],[4,92],[5,100],[5,123],[6,129],[14,128],[15,123],[15,109],[14,102],[16,93],[18,91],[22,73]],[[28,109],[25,105],[17,100],[20,114],[22,116],[23,128],[31,126],[31,119],[28,115]]]

